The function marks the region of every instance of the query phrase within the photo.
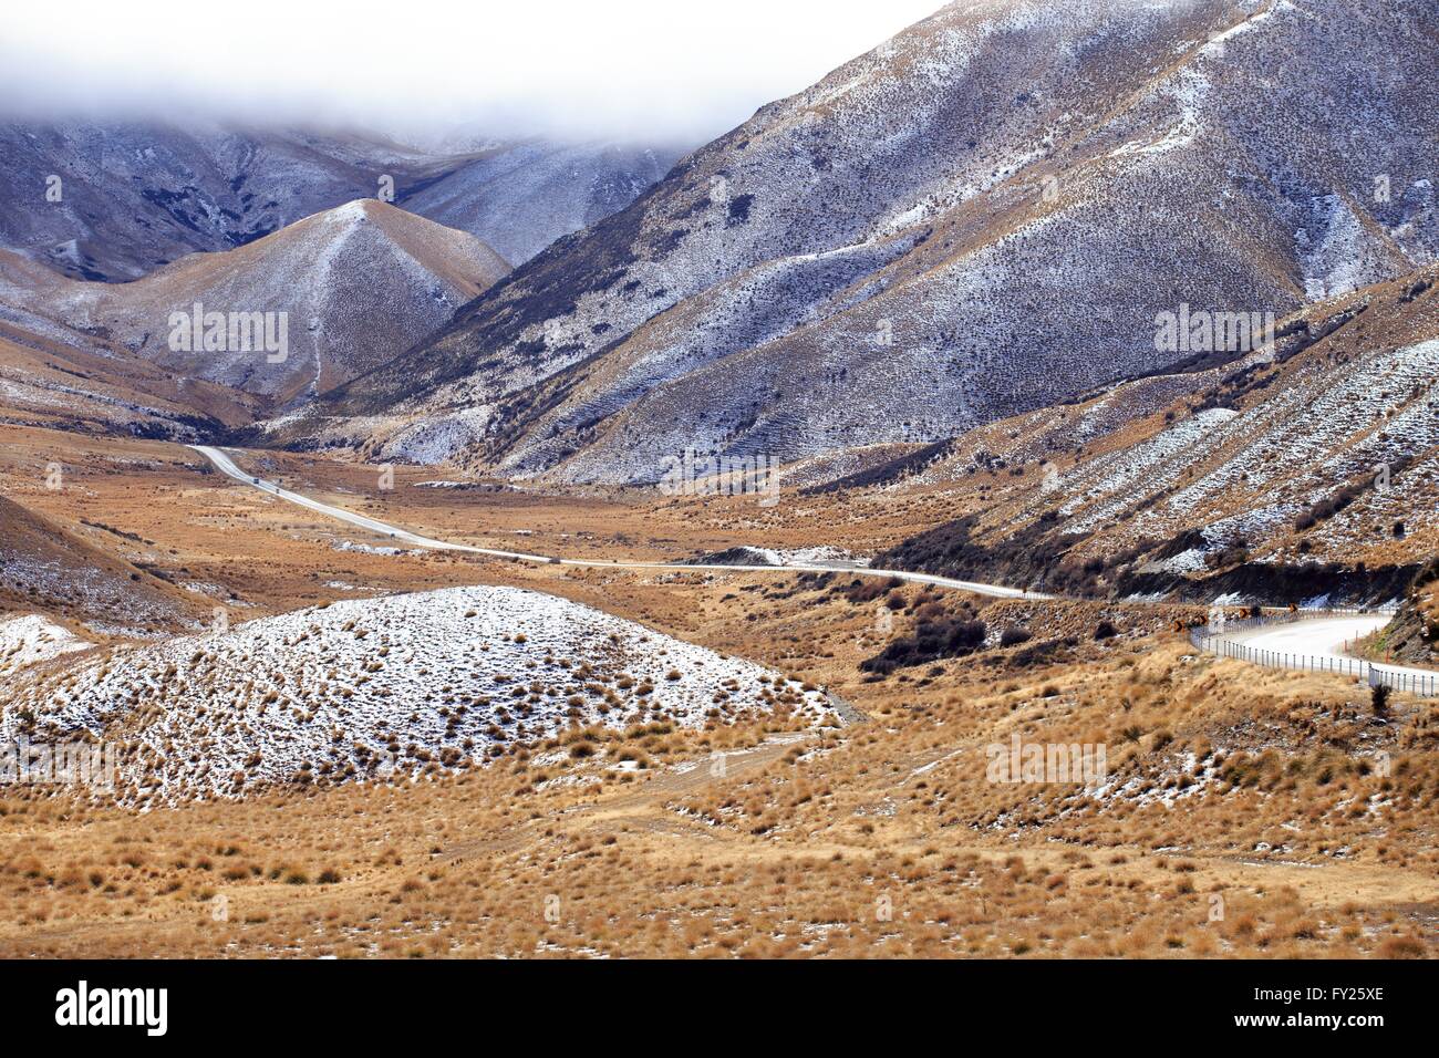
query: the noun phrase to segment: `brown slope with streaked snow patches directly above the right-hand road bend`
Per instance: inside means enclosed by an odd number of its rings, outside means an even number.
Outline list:
[[[896,501],[928,492],[961,517],[875,561],[1058,590],[1393,600],[1439,551],[1436,379],[1430,265],[1285,321],[1272,361],[1135,380],[894,464]]]

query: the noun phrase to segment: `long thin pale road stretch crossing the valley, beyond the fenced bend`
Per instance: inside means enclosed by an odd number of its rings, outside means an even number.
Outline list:
[[[256,478],[252,474],[246,474],[235,462],[217,448],[209,445],[189,445],[212,464],[222,474],[242,481],[250,488],[258,488],[260,492],[268,492],[272,497],[286,499],[299,507],[305,507],[317,514],[324,514],[330,518],[337,518],[340,521],[348,523],[370,533],[378,533],[387,535],[393,540],[404,541],[406,544],[413,544],[414,547],[426,547],[435,551],[466,551],[469,554],[486,554],[494,559],[515,559],[519,561],[531,561],[550,566],[578,566],[584,569],[625,569],[625,570],[741,570],[753,573],[766,573],[774,570],[790,570],[796,573],[853,573],[862,577],[899,577],[899,580],[907,580],[917,584],[934,584],[935,587],[951,587],[960,592],[973,592],[974,594],[986,594],[996,599],[1052,599],[1053,596],[1040,594],[1039,592],[1026,592],[1017,587],[1004,587],[1003,584],[983,584],[974,580],[954,580],[951,577],[938,577],[931,573],[909,573],[908,570],[876,570],[868,566],[823,566],[820,563],[789,563],[783,566],[730,566],[725,563],[712,564],[696,564],[696,563],[653,563],[653,561],[613,561],[606,559],[563,559],[551,557],[545,554],[527,554],[524,551],[499,551],[491,547],[473,547],[472,544],[455,544],[448,540],[435,540],[432,537],[422,537],[417,533],[410,533],[409,530],[390,525],[377,518],[368,518],[363,514],[355,514],[354,511],[347,511],[342,507],[331,507],[330,504],[322,504],[318,499],[311,499],[309,497],[301,495],[299,492],[291,492],[286,488],[281,488],[272,481],[265,481],[263,478]]]

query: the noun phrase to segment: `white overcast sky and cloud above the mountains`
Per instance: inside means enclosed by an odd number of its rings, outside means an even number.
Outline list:
[[[699,143],[941,0],[7,3],[0,105]]]

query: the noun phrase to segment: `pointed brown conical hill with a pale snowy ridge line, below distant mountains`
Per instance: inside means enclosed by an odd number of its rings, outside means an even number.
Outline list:
[[[13,297],[36,315],[105,335],[161,367],[282,404],[394,357],[507,271],[473,236],[364,199],[233,250],[181,258],[134,282],[50,276],[29,297]],[[224,314],[220,348],[204,347],[209,338],[194,325],[180,324],[177,334],[173,314],[193,317],[196,305],[201,315]],[[229,328],[236,312],[276,314],[266,321],[273,341],[250,340],[245,348],[245,335]],[[201,324],[207,331],[209,320]]]

